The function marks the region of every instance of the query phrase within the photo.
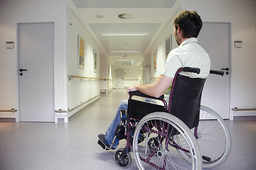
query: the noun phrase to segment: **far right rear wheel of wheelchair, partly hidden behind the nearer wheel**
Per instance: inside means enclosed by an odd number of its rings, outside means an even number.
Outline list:
[[[191,129],[192,133],[195,128]],[[179,135],[174,136],[174,141],[183,146]],[[224,120],[209,107],[200,106],[200,120],[197,127],[197,141],[202,153],[203,168],[213,168],[222,164],[231,150],[231,136]],[[177,150],[185,160],[190,161],[190,156]],[[210,160],[209,160],[210,158]]]

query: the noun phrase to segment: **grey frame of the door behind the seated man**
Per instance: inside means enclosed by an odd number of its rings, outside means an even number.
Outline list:
[[[234,62],[233,62],[233,46],[232,46],[232,42],[233,42],[233,37],[232,37],[232,20],[224,20],[224,21],[219,21],[219,20],[202,20],[202,23],[228,23],[229,24],[229,50],[230,50],[230,80],[229,80],[229,120],[234,120],[234,114],[231,111],[232,106],[234,105],[234,75],[233,75],[233,67],[234,67]]]

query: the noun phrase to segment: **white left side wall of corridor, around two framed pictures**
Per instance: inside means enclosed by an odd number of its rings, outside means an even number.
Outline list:
[[[69,26],[68,23],[72,23]],[[84,69],[77,67],[78,35],[85,40]],[[97,72],[94,72],[93,50],[97,51]],[[100,78],[100,46],[85,30],[74,13],[67,7],[67,75]],[[100,93],[100,81],[73,78],[67,80],[67,106],[69,109],[87,102]],[[69,113],[72,115],[72,113]]]

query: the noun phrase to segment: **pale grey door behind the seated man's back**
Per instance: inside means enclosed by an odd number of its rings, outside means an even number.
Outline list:
[[[230,25],[229,23],[203,23],[197,37],[199,44],[207,51],[212,63],[211,70],[222,70],[224,75],[207,77],[202,92],[201,105],[218,112],[223,119],[229,119],[230,104]]]

